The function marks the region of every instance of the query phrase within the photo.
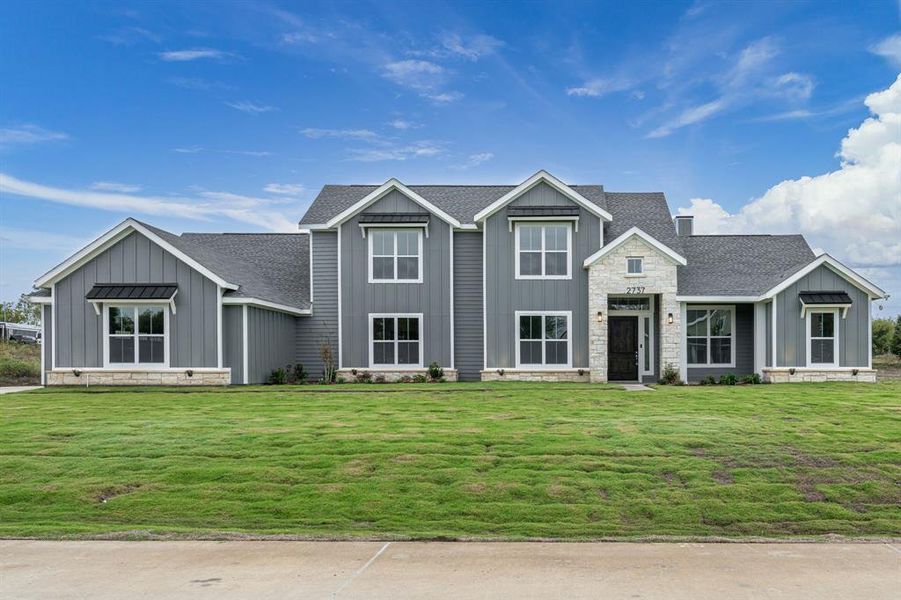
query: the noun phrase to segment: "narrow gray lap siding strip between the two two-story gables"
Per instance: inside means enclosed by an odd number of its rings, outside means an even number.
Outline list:
[[[454,365],[460,381],[479,381],[482,337],[482,234],[454,234]]]

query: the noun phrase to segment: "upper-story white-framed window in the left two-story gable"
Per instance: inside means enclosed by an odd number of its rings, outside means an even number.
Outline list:
[[[369,233],[370,283],[422,283],[422,231],[374,229]]]

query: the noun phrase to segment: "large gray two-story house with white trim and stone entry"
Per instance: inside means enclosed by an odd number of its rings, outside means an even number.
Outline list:
[[[127,219],[36,281],[48,384],[874,381],[885,292],[800,235],[695,235],[662,193],[327,185],[295,234]]]

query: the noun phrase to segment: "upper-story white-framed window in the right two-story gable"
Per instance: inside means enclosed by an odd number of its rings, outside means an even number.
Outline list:
[[[572,225],[516,224],[516,278],[570,279]]]

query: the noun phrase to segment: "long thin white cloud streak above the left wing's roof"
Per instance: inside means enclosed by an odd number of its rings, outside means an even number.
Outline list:
[[[195,198],[143,196],[51,187],[17,179],[5,173],[0,173],[0,192],[125,214],[182,217],[196,220],[226,217],[273,231],[296,230],[294,221],[272,210],[273,202],[271,200],[241,196],[230,192],[203,190]]]

